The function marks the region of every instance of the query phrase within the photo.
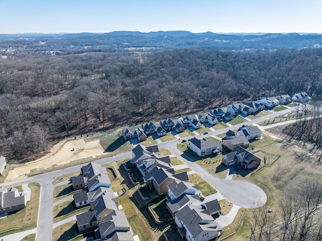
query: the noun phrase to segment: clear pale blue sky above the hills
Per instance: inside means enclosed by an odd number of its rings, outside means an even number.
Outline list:
[[[0,0],[0,33],[322,33],[322,0]]]

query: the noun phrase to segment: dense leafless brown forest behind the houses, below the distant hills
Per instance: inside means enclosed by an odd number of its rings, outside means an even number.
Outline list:
[[[322,49],[174,48],[0,57],[0,153],[12,160],[93,129],[283,93],[306,91],[322,99]]]

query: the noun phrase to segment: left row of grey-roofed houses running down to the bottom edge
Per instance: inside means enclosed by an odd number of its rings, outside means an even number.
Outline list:
[[[124,211],[119,210],[106,168],[89,163],[81,175],[71,178],[76,207],[91,206],[90,211],[76,215],[79,231],[95,230],[97,240],[134,241],[133,232]]]

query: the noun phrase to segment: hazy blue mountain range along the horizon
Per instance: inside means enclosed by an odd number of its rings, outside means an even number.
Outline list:
[[[322,47],[322,34],[298,33],[191,33],[189,31],[157,31],[149,33],[116,31],[110,33],[24,33],[0,34],[2,41],[47,41],[47,46],[72,42],[73,47],[124,49],[154,47],[158,49],[192,47],[216,48],[234,51],[272,51],[276,49],[302,49]]]

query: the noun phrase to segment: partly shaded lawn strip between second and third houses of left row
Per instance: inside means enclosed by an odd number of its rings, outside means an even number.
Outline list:
[[[66,201],[54,206],[54,222],[61,221],[67,217],[71,217],[73,215],[86,212],[91,209],[90,206],[76,209],[73,202],[74,201]]]

